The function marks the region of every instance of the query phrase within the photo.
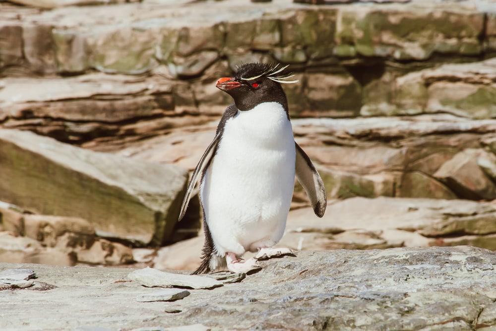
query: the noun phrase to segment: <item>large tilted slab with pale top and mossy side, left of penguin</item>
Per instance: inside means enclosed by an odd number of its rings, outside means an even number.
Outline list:
[[[157,244],[171,235],[186,185],[181,168],[92,152],[31,132],[0,130],[0,145],[0,199],[42,214],[81,217],[124,239]],[[45,199],[31,199],[33,190]]]

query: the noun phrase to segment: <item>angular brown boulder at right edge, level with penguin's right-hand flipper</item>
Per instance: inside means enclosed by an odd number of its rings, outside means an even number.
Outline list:
[[[495,199],[496,186],[478,165],[478,158],[485,157],[491,161],[496,156],[481,150],[467,149],[445,162],[434,174],[443,181],[460,198]]]

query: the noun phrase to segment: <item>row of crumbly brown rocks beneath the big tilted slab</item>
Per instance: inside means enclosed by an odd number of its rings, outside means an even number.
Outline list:
[[[131,248],[99,238],[78,217],[37,215],[0,202],[0,261],[48,265],[125,265]]]

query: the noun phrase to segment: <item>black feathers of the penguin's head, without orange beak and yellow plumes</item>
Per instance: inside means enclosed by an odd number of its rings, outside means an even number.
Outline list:
[[[271,67],[273,65],[248,63],[238,68],[233,80],[241,83],[241,86],[226,91],[233,97],[236,108],[244,112],[264,102],[278,102],[288,113],[288,100],[280,83],[263,75],[252,80],[246,80],[246,78],[263,74]]]

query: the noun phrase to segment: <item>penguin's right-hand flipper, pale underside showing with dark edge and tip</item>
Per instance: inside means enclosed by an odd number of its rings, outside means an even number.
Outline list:
[[[310,157],[300,147],[296,141],[296,178],[307,192],[315,215],[322,217],[327,206],[324,182],[317,169],[310,160]]]

